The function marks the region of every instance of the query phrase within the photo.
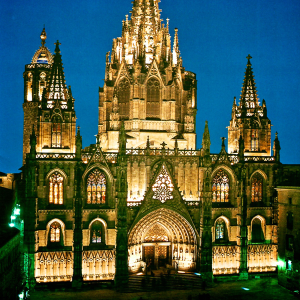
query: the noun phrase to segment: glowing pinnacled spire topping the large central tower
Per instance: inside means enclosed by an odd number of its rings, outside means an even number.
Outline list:
[[[131,11],[131,18],[125,15],[122,21],[122,36],[113,39],[111,62],[120,63],[125,59],[126,64],[134,64],[136,59],[151,63],[153,56],[158,62],[176,65],[179,58],[177,29],[175,29],[173,54],[169,35],[169,19],[166,27],[161,24],[159,0],[135,0]],[[173,56],[173,57],[172,57]],[[174,61],[175,59],[175,61]]]

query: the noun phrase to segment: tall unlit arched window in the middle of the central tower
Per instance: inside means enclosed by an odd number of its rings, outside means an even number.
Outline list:
[[[146,85],[146,116],[159,118],[160,84],[157,78],[151,77]]]

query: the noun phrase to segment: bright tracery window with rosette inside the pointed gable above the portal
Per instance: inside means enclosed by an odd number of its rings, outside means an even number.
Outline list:
[[[168,175],[165,166],[162,165],[160,172],[152,185],[152,190],[154,192],[153,199],[158,199],[162,203],[168,199],[172,199],[173,188],[174,185],[171,182],[171,178]]]

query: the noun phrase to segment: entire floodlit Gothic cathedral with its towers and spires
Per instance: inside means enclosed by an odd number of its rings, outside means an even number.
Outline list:
[[[228,112],[228,150],[196,148],[196,74],[158,0],[134,0],[106,53],[96,143],[82,149],[59,42],[24,71],[24,251],[32,282],[115,280],[152,268],[213,275],[276,270],[279,140],[251,56]],[[30,263],[29,263],[30,262]]]

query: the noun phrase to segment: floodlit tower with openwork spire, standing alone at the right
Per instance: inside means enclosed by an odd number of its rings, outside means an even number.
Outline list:
[[[259,105],[250,54],[244,75],[239,105],[235,97],[232,105],[231,120],[228,127],[228,153],[238,152],[238,139],[244,141],[244,155],[271,155],[271,121],[266,115],[264,99]]]

